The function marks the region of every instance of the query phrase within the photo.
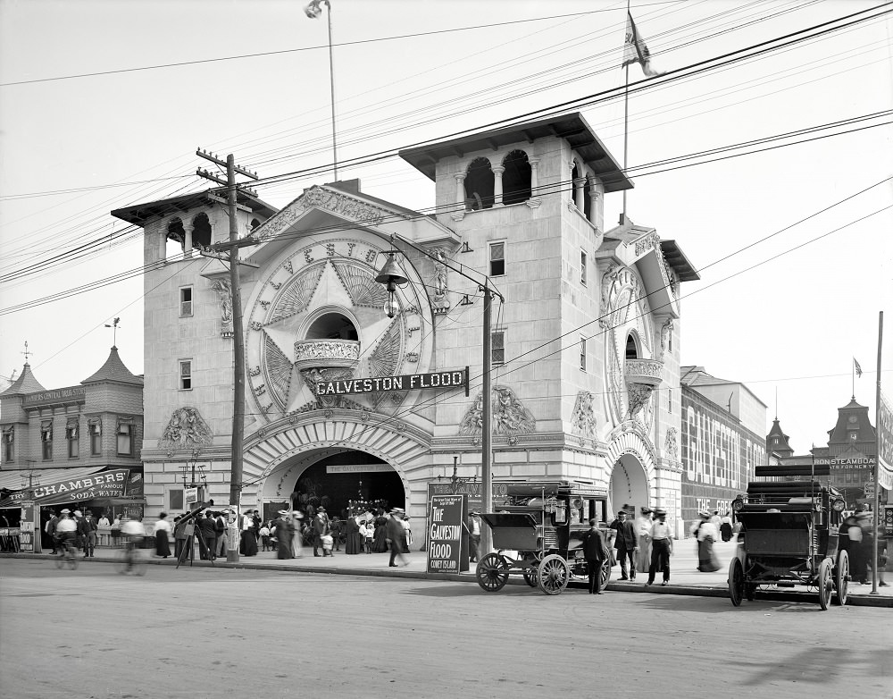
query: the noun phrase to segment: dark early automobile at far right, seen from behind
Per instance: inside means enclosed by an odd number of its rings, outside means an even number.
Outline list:
[[[764,480],[751,481],[747,497],[732,502],[740,531],[729,565],[731,603],[799,585],[818,594],[822,610],[832,594],[846,604],[849,559],[838,535],[846,501],[817,480],[816,467],[756,467],[756,475]]]

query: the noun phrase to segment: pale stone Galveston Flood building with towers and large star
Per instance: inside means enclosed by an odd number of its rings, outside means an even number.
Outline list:
[[[681,397],[668,387],[680,381],[680,284],[698,275],[654,228],[624,216],[605,230],[604,198],[632,182],[604,144],[566,114],[400,156],[433,183],[436,214],[359,181],[313,186],[280,210],[239,195],[242,507],[338,515],[362,501],[423,517],[428,484],[454,464],[480,481],[480,284],[461,266],[503,299],[490,337],[494,483],[575,479],[613,510],[678,518]],[[149,514],[177,510],[190,463],[205,496],[226,502],[233,308],[227,267],[200,248],[228,239],[224,207],[196,194],[113,215],[145,235]],[[406,274],[393,295],[375,281],[391,254]]]

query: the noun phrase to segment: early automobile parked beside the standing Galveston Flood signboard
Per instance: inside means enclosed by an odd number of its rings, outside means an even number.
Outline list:
[[[511,573],[531,587],[561,594],[572,577],[588,579],[580,535],[590,518],[605,522],[607,495],[592,484],[573,481],[494,484],[494,512],[481,513],[493,535],[493,548],[475,570],[487,592],[501,590]],[[610,562],[600,571],[611,577]]]

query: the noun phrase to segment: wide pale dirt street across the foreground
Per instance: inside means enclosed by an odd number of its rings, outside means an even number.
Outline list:
[[[893,696],[887,609],[0,562],[0,695]]]

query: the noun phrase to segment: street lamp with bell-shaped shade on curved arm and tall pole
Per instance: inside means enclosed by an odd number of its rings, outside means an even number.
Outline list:
[[[391,236],[391,242],[393,244],[396,236]],[[410,242],[409,240],[405,240],[404,238],[400,239],[402,242],[405,242],[407,245],[412,246],[419,250],[423,255],[428,257],[433,257],[429,252],[423,250]],[[397,250],[391,250],[388,252],[388,261],[384,266],[381,267],[381,271],[379,274],[375,276],[375,281],[380,284],[384,284],[388,290],[388,317],[394,317],[396,313],[396,302],[394,301],[394,294],[396,292],[396,287],[401,286],[408,282],[408,277],[403,269],[401,269],[400,265],[396,262],[396,258],[394,257]],[[484,337],[483,337],[483,369],[482,369],[482,382],[483,385],[481,387],[482,392],[482,405],[480,411],[480,487],[483,493],[481,493],[481,506],[484,512],[492,512],[493,511],[493,444],[492,444],[492,427],[490,425],[490,415],[492,414],[492,403],[493,403],[493,395],[492,395],[492,387],[490,384],[490,367],[492,354],[490,349],[491,336],[490,336],[490,308],[493,305],[493,295],[496,294],[500,300],[505,300],[498,291],[494,291],[490,288],[490,280],[486,275],[482,275],[484,277],[484,282],[480,283],[478,280],[472,278],[468,274],[465,274],[461,269],[456,269],[454,266],[444,263],[443,260],[440,260],[441,264],[445,264],[449,269],[453,270],[455,274],[459,274],[465,279],[470,280],[478,284],[478,289],[483,291],[484,293]],[[490,535],[490,529],[488,526],[482,527],[480,532],[480,547],[481,551],[484,553],[488,553],[492,550],[491,546],[492,537]]]

